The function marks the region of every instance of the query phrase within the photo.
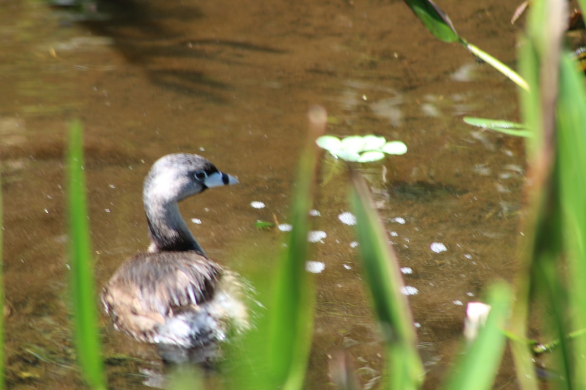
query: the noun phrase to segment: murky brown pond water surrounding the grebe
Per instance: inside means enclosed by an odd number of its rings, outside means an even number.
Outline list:
[[[459,33],[515,59],[516,6],[441,1]],[[364,167],[401,266],[426,388],[461,339],[466,302],[510,279],[523,182],[521,142],[468,127],[462,114],[516,119],[513,84],[464,49],[432,39],[402,1],[114,1],[93,22],[38,0],[0,1],[0,156],[4,191],[8,384],[79,388],[68,330],[64,214],[66,123],[85,126],[96,279],[148,246],[141,186],[156,158],[200,153],[241,184],[182,205],[207,253],[243,274],[270,268],[287,222],[305,112],[319,103],[329,133],[376,133],[409,151]],[[99,19],[104,19],[99,21]],[[468,80],[468,81],[462,81]],[[331,158],[324,159],[324,178]],[[328,388],[346,351],[364,384],[382,360],[357,261],[343,177],[324,180],[312,244],[321,261],[308,388]],[[264,209],[250,203],[264,202]],[[445,251],[435,253],[432,243]],[[258,256],[263,253],[263,256]],[[251,257],[251,254],[255,254]],[[108,320],[103,319],[104,325]],[[160,370],[151,347],[105,327],[113,388]],[[122,354],[122,356],[120,355]],[[124,358],[132,356],[137,361]],[[151,362],[151,363],[145,363]],[[495,388],[515,388],[503,370]]]

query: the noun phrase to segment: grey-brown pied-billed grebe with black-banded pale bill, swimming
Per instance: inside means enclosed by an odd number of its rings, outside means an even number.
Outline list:
[[[178,207],[188,196],[237,182],[205,158],[185,153],[160,158],[145,179],[149,252],[118,268],[102,300],[118,330],[156,344],[163,360],[206,360],[227,333],[248,328],[237,275],[207,257]]]

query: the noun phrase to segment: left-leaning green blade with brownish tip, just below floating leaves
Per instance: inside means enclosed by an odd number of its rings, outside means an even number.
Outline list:
[[[387,343],[389,388],[418,389],[423,381],[423,365],[417,353],[417,335],[407,297],[401,293],[403,279],[398,261],[366,184],[355,170],[351,170],[350,177],[350,203],[356,215],[367,287]]]

